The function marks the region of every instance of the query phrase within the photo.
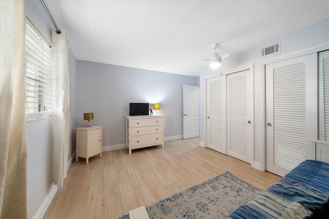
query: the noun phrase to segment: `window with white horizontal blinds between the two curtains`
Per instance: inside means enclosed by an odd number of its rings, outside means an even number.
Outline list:
[[[26,23],[26,118],[52,115],[52,47]]]

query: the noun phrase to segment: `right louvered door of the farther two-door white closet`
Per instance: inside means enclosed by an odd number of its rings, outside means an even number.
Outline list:
[[[227,75],[227,154],[249,164],[253,133],[252,90],[250,69]]]

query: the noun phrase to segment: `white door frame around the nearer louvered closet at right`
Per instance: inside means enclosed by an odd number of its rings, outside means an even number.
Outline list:
[[[261,62],[261,74],[260,74],[260,82],[261,82],[261,98],[260,98],[260,108],[264,109],[264,111],[262,111],[260,113],[260,123],[263,124],[261,125],[263,128],[260,129],[260,151],[261,151],[261,157],[260,157],[260,166],[259,170],[261,171],[266,171],[266,109],[265,109],[265,98],[266,98],[266,93],[265,93],[265,67],[268,64],[271,63],[276,63],[276,62],[280,62],[280,61],[284,61],[286,59],[290,59],[290,58],[296,58],[298,56],[303,56],[303,55],[308,55],[310,53],[315,53],[315,52],[321,52],[323,50],[328,50],[329,49],[329,44],[324,44],[321,46],[316,46],[313,48],[309,48],[306,50],[302,50],[302,51],[297,51],[297,52],[293,52],[293,53],[289,53],[286,55],[281,55],[279,57],[274,57],[274,58],[268,58],[265,59]],[[310,145],[306,144],[306,159],[310,158]]]

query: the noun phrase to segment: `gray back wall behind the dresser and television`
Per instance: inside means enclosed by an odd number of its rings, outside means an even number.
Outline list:
[[[129,103],[160,104],[165,138],[181,138],[183,85],[197,85],[198,77],[78,60],[76,80],[76,125],[86,126],[83,113],[94,112],[106,147],[125,144]]]

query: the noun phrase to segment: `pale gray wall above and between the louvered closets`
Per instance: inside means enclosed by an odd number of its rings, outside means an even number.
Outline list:
[[[281,53],[272,54],[266,57],[261,56],[261,49],[275,43],[281,42]],[[231,55],[222,61],[222,68],[219,70],[208,70],[205,66],[200,69],[200,144],[205,144],[204,123],[206,112],[205,95],[206,77],[211,74],[218,74],[221,70],[234,69],[236,67],[246,66],[253,64],[254,67],[254,160],[260,162],[260,157],[264,153],[261,151],[261,133],[264,133],[264,116],[265,109],[262,108],[261,103],[264,102],[262,95],[265,95],[265,90],[262,89],[265,76],[261,72],[261,62],[271,58],[280,57],[283,55],[291,54],[294,52],[302,51],[305,49],[321,46],[329,43],[329,19],[322,21],[313,26],[301,29],[299,31],[287,34],[273,41],[253,47],[239,54]],[[317,72],[315,72],[317,74]]]

